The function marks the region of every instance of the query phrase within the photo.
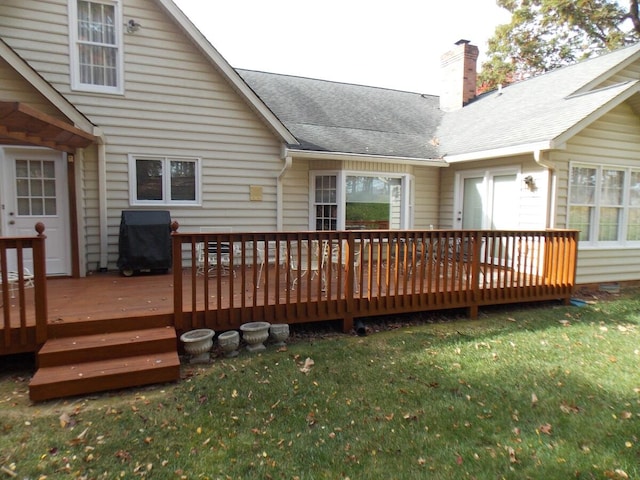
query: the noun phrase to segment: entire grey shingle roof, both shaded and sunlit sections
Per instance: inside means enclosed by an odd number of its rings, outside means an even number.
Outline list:
[[[437,159],[551,141],[630,88],[590,90],[640,43],[491,92],[443,113],[439,97],[238,70],[303,150]],[[585,88],[589,86],[589,88]],[[583,91],[581,91],[583,89]],[[577,93],[578,92],[578,93]]]

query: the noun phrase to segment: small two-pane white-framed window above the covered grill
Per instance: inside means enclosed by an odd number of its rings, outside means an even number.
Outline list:
[[[132,205],[200,204],[200,159],[129,156]]]

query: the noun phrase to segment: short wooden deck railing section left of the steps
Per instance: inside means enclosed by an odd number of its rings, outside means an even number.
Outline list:
[[[42,223],[36,224],[35,229],[35,237],[0,237],[0,341],[5,353],[30,351],[47,337],[46,236]],[[31,260],[33,271],[26,267],[27,259]],[[27,295],[31,288],[33,295]],[[27,326],[28,310],[35,312],[35,329]]]

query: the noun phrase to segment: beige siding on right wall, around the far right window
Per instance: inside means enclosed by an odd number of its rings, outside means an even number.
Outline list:
[[[619,167],[640,166],[640,118],[622,104],[584,129],[568,142],[564,151],[553,153],[558,177],[556,225],[568,225],[567,206],[571,162]],[[581,245],[578,283],[638,280],[640,249],[602,248]]]

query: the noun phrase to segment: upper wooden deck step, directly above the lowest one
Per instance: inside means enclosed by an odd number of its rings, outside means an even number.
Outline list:
[[[176,349],[173,327],[158,327],[49,339],[38,352],[37,359],[38,367],[43,368]]]

